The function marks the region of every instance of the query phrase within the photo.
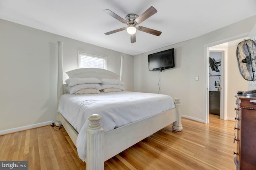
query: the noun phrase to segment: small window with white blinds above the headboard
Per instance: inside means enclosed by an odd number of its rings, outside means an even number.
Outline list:
[[[78,51],[78,68],[102,68],[108,69],[108,58]]]

